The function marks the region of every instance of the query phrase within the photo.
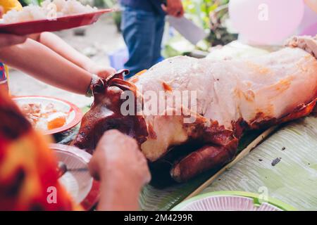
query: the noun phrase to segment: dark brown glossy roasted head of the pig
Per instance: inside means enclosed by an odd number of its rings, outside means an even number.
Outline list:
[[[99,139],[109,129],[118,129],[138,143],[146,140],[148,133],[144,118],[120,113],[120,105],[123,103],[120,96],[123,91],[135,91],[135,86],[123,80],[125,72],[123,70],[108,79],[101,79],[92,87],[94,103],[82,118],[80,131],[71,145],[93,153]]]

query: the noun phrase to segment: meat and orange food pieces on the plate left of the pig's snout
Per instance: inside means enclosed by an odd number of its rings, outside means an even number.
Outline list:
[[[42,130],[63,127],[68,118],[68,113],[59,112],[53,103],[45,107],[40,103],[27,103],[20,105],[20,109],[33,127]]]

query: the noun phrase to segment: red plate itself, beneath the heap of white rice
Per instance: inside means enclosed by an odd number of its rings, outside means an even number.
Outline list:
[[[104,13],[110,13],[113,9],[107,8],[93,13],[68,15],[56,20],[32,20],[22,23],[0,24],[0,32],[7,34],[36,34],[40,32],[54,32],[74,27],[81,27],[95,23]]]

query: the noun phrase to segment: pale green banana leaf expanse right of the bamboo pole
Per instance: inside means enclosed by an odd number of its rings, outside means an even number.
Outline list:
[[[287,124],[203,193],[263,193],[297,210],[317,210],[317,117]]]

